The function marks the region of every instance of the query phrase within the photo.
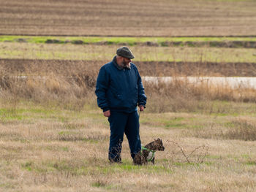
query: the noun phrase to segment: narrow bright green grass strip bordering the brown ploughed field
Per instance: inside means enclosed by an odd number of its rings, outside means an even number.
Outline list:
[[[145,45],[189,47],[256,47],[256,37],[35,37],[0,36],[0,42],[29,42],[75,45]]]

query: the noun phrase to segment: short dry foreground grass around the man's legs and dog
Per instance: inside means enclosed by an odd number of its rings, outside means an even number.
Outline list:
[[[238,115],[252,122],[252,113]],[[11,110],[12,109],[12,110]],[[3,191],[255,191],[255,142],[188,136],[230,116],[140,114],[143,144],[161,137],[156,164],[133,166],[124,139],[124,164],[108,163],[108,120],[100,110],[63,110],[0,102],[0,189]],[[4,111],[6,110],[6,111]],[[4,112],[4,113],[3,113]],[[177,126],[180,123],[181,126]],[[182,150],[181,150],[182,149]],[[186,158],[186,156],[187,158]]]

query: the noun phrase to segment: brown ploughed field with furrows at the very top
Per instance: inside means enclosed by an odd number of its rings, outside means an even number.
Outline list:
[[[255,35],[255,1],[0,1],[1,34]]]

